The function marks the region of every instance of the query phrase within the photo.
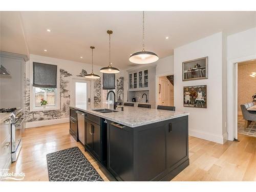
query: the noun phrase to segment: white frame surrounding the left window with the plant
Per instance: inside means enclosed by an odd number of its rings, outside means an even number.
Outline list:
[[[55,65],[57,66],[57,88],[55,91],[55,106],[48,106],[46,105],[46,108],[43,106],[35,106],[35,88],[33,87],[33,62],[39,62],[39,63],[46,63],[49,65]],[[29,60],[29,72],[30,72],[30,111],[49,111],[49,110],[59,110],[60,109],[60,89],[59,89],[59,66],[56,63],[52,63],[49,61],[42,61],[42,60],[35,60],[31,59]]]

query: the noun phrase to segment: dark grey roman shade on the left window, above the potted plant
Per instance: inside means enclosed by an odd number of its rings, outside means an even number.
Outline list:
[[[33,86],[57,88],[57,66],[33,62]]]

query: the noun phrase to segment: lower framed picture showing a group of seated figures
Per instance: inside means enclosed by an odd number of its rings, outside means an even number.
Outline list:
[[[183,106],[207,108],[207,86],[183,87]]]

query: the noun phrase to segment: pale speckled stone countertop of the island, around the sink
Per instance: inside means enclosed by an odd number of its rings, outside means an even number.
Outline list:
[[[121,105],[118,105],[121,106]],[[101,105],[91,105],[87,108],[85,105],[70,106],[71,108],[87,112],[101,118],[111,120],[126,126],[136,127],[146,124],[151,124],[155,122],[165,121],[169,119],[174,119],[182,116],[189,115],[186,112],[174,112],[167,110],[157,110],[157,109],[146,109],[138,108],[136,106],[123,106],[124,110],[117,108],[114,113],[100,113],[92,111],[93,109],[112,109],[113,104],[101,104]]]

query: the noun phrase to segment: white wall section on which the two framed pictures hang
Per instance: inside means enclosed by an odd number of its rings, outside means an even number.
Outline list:
[[[189,112],[189,135],[224,143],[222,129],[222,33],[174,49],[174,98],[177,111]],[[208,56],[208,79],[182,81],[182,62]],[[183,87],[207,85],[207,109],[183,106]]]

